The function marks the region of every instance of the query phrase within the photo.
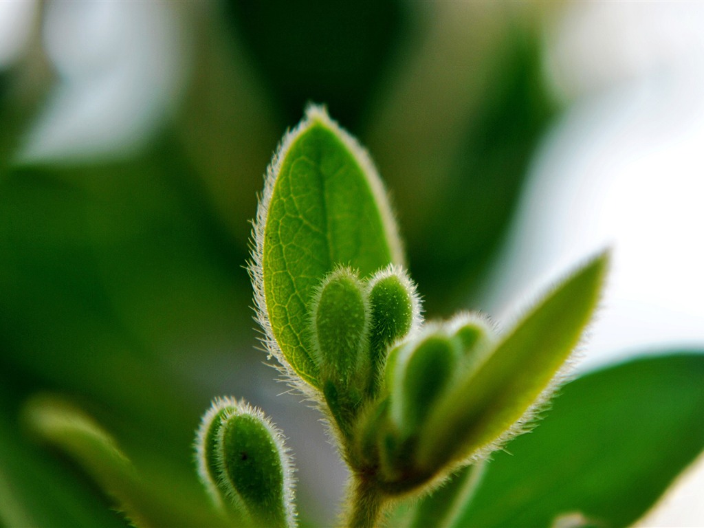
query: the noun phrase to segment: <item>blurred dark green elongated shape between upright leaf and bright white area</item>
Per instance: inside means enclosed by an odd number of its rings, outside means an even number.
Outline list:
[[[505,66],[463,134],[443,212],[429,215],[422,235],[413,238],[413,247],[409,242],[416,279],[422,284],[427,279],[428,290],[439,292],[436,300],[428,298],[435,310],[447,310],[441,306],[444,301],[461,301],[456,295],[472,292],[484,277],[513,218],[536,146],[555,114],[556,104],[542,77],[539,36],[517,30],[508,38]],[[453,219],[452,229],[439,221],[441,215]],[[426,244],[433,244],[435,250],[425,251]],[[458,283],[441,279],[434,272],[439,267],[457,277]]]

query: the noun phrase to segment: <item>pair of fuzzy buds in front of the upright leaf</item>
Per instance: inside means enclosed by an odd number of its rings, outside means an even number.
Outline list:
[[[384,386],[389,347],[415,334],[420,303],[406,272],[389,266],[362,280],[349,268],[331,272],[315,292],[310,342],[327,408],[344,440]]]

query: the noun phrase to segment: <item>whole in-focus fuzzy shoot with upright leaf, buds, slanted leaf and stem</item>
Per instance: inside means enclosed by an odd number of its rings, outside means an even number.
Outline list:
[[[591,318],[607,261],[589,260],[501,334],[475,314],[424,322],[370,157],[325,108],[307,108],[265,176],[249,271],[266,349],[318,403],[349,466],[348,526],[381,524],[389,505],[428,494],[529,427]],[[216,503],[244,510],[243,494],[215,476],[239,452],[215,456],[219,470],[210,454],[237,413],[215,408],[199,435],[201,479]]]

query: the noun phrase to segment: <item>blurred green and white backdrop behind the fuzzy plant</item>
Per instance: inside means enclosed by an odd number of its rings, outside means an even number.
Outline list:
[[[703,348],[703,30],[697,3],[0,1],[0,491],[106,501],[23,434],[51,391],[198,494],[194,429],[232,394],[332,522],[344,467],[263,364],[244,270],[308,101],[370,150],[429,318],[510,320],[611,246],[580,368]],[[704,524],[699,466],[642,526]]]

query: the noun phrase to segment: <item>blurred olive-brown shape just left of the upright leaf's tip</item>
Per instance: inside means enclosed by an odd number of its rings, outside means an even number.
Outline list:
[[[194,43],[193,69],[175,133],[218,219],[246,250],[262,175],[281,131],[298,118],[301,106],[291,121],[282,122],[230,20],[220,9],[193,9],[193,5],[174,6],[177,11],[182,8],[180,15],[188,19]]]

